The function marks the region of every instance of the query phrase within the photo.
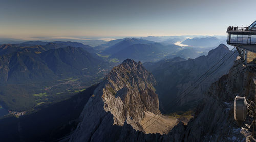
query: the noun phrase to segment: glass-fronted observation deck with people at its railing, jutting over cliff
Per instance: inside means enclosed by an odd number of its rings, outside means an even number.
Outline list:
[[[227,44],[237,48],[248,66],[256,66],[256,21],[249,27],[231,27],[227,31]]]

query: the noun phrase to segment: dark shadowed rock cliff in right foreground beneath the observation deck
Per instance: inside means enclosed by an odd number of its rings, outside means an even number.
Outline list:
[[[176,125],[167,135],[144,134],[129,125],[123,127],[120,139],[126,141],[245,141],[233,117],[237,95],[253,100],[253,77],[237,58],[229,73],[213,83],[197,106],[195,117],[185,126]],[[119,140],[120,140],[119,139]]]

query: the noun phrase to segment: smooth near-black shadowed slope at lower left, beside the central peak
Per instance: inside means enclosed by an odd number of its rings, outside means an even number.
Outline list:
[[[0,119],[1,141],[53,141],[76,128],[81,111],[97,85],[91,86],[68,100],[16,118]]]

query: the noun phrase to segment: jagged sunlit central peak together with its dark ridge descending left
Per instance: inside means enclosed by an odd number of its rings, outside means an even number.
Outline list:
[[[72,133],[67,137],[70,141],[116,141],[124,124],[142,131],[140,121],[149,115],[161,114],[153,87],[155,83],[154,77],[141,62],[127,59],[114,67],[101,83],[68,100],[20,118],[1,119],[0,136],[3,141],[41,141],[56,140]],[[63,108],[58,110],[59,107]],[[69,115],[65,115],[67,113]],[[40,119],[30,122],[37,117]],[[43,125],[46,120],[49,125]],[[176,124],[176,119],[161,120],[172,120]],[[170,124],[167,126],[173,127]],[[40,129],[33,131],[38,127]]]

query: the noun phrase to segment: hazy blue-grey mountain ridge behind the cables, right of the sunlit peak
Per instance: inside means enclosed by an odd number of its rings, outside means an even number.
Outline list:
[[[231,58],[223,64],[222,68],[217,69],[210,78],[207,78],[195,91],[191,92],[188,97],[182,98],[184,94],[189,93],[188,91],[186,93],[183,92],[187,87],[191,86],[200,75],[204,74],[208,69],[214,66],[228,52],[229,48],[224,44],[220,44],[217,48],[209,51],[207,56],[200,56],[188,60],[174,58],[161,60],[156,63],[145,63],[144,66],[146,69],[150,70],[157,81],[155,87],[156,93],[159,95],[160,110],[168,113],[173,112],[173,110],[187,111],[191,110],[193,106],[195,107],[195,102],[202,98],[210,84],[217,81],[222,75],[228,73],[237,54],[231,56]],[[222,59],[221,62],[227,58],[228,56]],[[169,109],[169,101],[177,97],[181,102],[179,105]]]

